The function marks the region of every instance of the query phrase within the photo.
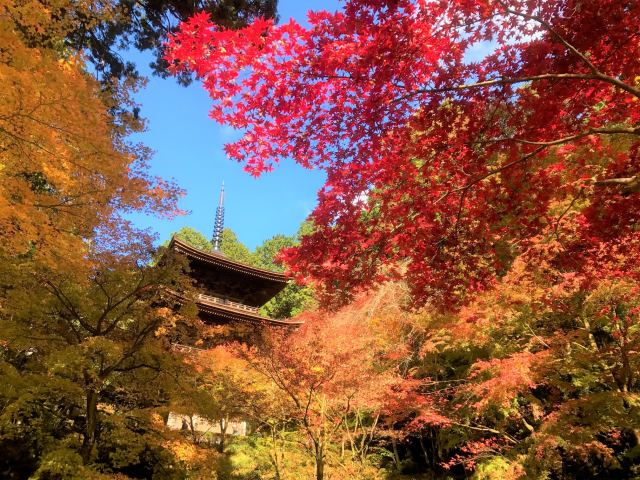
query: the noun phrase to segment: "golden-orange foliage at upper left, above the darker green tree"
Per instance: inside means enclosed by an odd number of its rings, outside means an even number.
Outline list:
[[[178,192],[148,177],[148,152],[127,142],[143,124],[113,113],[131,85],[105,91],[64,47],[81,16],[71,8],[97,22],[111,7],[0,0],[0,253],[73,271],[115,206],[161,211],[168,201],[171,212]]]

